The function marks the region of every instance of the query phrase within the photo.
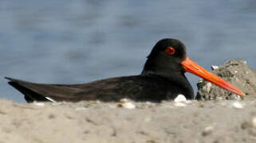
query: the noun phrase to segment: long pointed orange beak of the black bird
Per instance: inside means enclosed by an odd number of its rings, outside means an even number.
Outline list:
[[[237,87],[234,87],[230,83],[227,83],[225,80],[221,79],[219,76],[208,72],[198,64],[196,64],[193,60],[189,57],[186,57],[186,60],[181,62],[183,69],[186,72],[191,72],[192,74],[198,75],[207,81],[214,83],[215,85],[222,87],[223,89],[230,91],[236,95],[241,95],[242,97],[246,96],[241,90]]]

